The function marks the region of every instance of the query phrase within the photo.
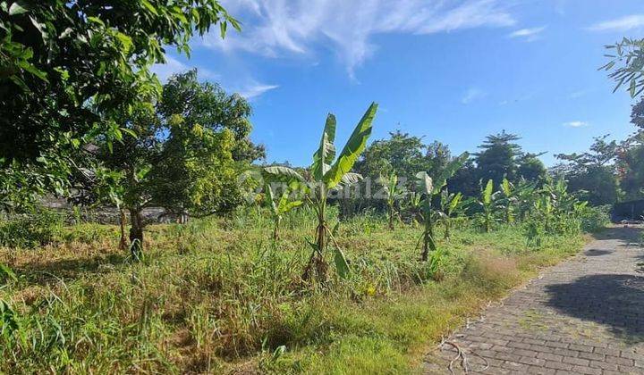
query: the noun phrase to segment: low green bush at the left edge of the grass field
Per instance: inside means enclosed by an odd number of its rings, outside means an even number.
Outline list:
[[[57,241],[63,229],[63,217],[51,210],[15,216],[0,222],[0,246],[34,248]]]

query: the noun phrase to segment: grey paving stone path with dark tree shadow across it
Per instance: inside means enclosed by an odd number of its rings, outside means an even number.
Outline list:
[[[582,254],[487,308],[456,332],[470,373],[644,374],[644,249],[640,229],[607,229]],[[428,354],[450,373],[453,346]],[[486,362],[487,361],[487,362]],[[464,373],[461,361],[454,373]]]

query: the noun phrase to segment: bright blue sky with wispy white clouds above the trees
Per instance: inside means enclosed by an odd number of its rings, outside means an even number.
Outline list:
[[[644,36],[641,0],[227,0],[242,21],[169,51],[160,79],[191,67],[253,105],[269,162],[309,165],[326,112],[343,144],[371,101],[373,139],[401,129],[453,153],[505,129],[526,151],[621,139],[633,104],[597,67],[604,45]],[[342,146],[342,145],[341,145]]]

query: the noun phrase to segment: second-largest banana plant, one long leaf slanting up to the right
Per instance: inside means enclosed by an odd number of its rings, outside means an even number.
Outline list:
[[[423,221],[422,233],[422,253],[420,254],[421,261],[427,261],[429,252],[436,251],[436,241],[434,237],[434,228],[436,226],[436,212],[432,208],[432,200],[434,196],[440,194],[441,190],[447,185],[447,179],[450,179],[456,171],[461,169],[462,165],[470,157],[468,153],[462,153],[457,158],[453,159],[445,166],[445,170],[440,176],[433,181],[429,177],[427,171],[419,171],[416,173],[417,187],[419,194],[423,196],[420,202],[420,218]]]

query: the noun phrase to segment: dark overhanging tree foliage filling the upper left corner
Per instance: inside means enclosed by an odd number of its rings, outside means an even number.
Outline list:
[[[17,0],[0,3],[0,162],[52,162],[157,96],[153,63],[190,53],[196,33],[239,29],[216,0]]]

